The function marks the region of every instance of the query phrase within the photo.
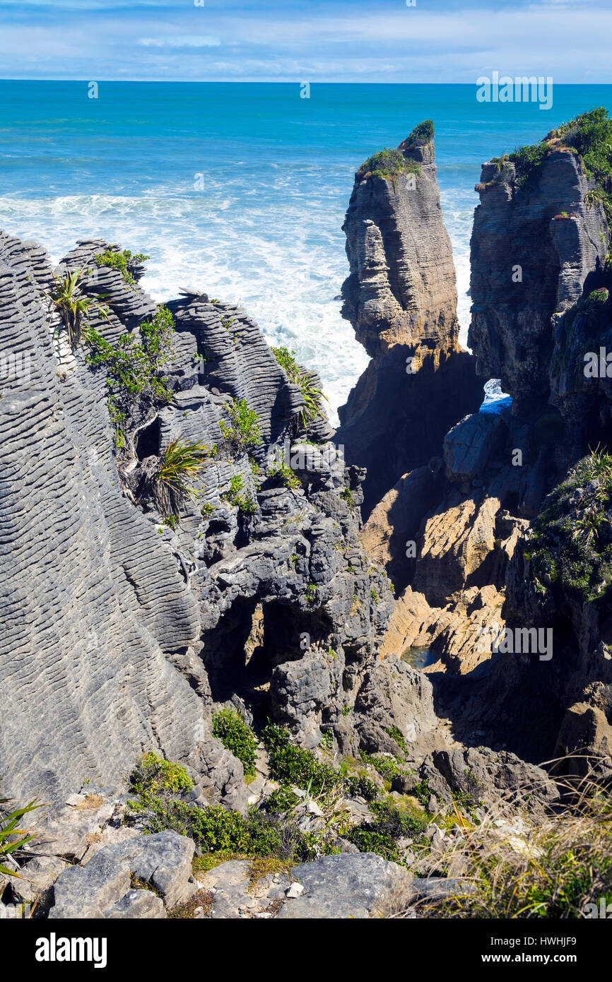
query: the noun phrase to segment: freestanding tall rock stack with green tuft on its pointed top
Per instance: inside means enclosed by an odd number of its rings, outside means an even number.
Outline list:
[[[433,139],[417,133],[398,148],[410,169],[381,176],[362,165],[343,226],[351,272],[342,313],[372,360],[339,410],[338,440],[367,468],[364,517],[402,474],[440,454],[447,430],[482,402],[458,344]]]

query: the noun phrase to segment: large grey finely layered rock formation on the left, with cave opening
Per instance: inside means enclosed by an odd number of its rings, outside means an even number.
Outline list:
[[[303,448],[298,487],[268,476],[302,395],[244,311],[204,295],[172,304],[172,402],[135,409],[113,452],[106,372],[66,344],[43,250],[8,236],[0,245],[1,349],[29,366],[3,379],[0,399],[3,791],[61,800],[85,779],[112,784],[157,748],[191,762],[204,797],[244,807],[242,765],[209,731],[213,702],[230,697],[258,698],[306,742],[337,723],[355,746],[342,710],[392,606],[358,542],[362,473],[323,442]],[[90,324],[109,342],[138,337],[155,305],[118,270],[96,268],[106,247],[81,243],[60,277],[86,271],[83,295],[107,307],[91,308]],[[260,467],[224,440],[233,398],[257,414]],[[310,438],[329,433],[317,419]],[[197,506],[171,527],[136,501],[174,439],[218,453]],[[237,476],[250,514],[230,491]]]

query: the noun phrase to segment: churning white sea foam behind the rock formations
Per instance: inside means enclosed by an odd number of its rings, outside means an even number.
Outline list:
[[[342,185],[343,175],[330,175]],[[33,239],[58,262],[78,239],[100,237],[150,255],[142,286],[154,300],[182,287],[198,287],[219,300],[242,304],[272,345],[286,345],[319,371],[329,414],[367,364],[351,325],[340,316],[338,295],[348,273],[340,198],[326,192],[305,201],[304,174],[291,167],[267,180],[212,181],[206,190],[177,182],[139,196],[76,194],[0,197],[0,228]],[[472,212],[445,209],[458,274],[462,343],[470,299],[469,236]]]

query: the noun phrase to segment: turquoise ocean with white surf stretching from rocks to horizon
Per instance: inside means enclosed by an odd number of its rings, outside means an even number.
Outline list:
[[[481,103],[475,85],[0,81],[0,229],[54,261],[77,239],[148,253],[155,300],[197,287],[243,304],[270,344],[316,368],[334,419],[367,357],[340,316],[341,231],[355,170],[435,125],[461,338],[480,164],[579,112],[612,85],[556,85],[537,103]]]

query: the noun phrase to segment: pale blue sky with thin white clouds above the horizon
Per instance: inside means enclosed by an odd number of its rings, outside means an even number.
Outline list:
[[[612,82],[610,0],[0,0],[0,78]]]

